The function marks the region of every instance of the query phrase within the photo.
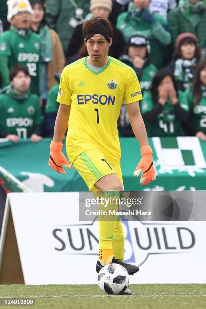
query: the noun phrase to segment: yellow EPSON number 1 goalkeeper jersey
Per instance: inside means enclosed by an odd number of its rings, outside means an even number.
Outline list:
[[[66,139],[71,163],[83,151],[96,149],[111,164],[120,164],[117,120],[123,101],[142,99],[136,73],[121,61],[109,57],[107,66],[95,72],[86,57],[66,66],[62,72],[57,101],[71,105]]]

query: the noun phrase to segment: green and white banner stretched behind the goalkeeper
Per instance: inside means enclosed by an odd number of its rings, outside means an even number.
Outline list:
[[[50,141],[45,138],[37,144],[29,139],[18,144],[0,142],[0,166],[33,192],[87,191],[76,170],[71,169],[63,176],[49,168]],[[141,159],[139,143],[135,138],[120,138],[126,191],[206,190],[206,143],[196,137],[153,137],[149,143],[153,149],[157,179],[142,186],[140,177],[133,176]],[[66,155],[65,146],[63,152]]]

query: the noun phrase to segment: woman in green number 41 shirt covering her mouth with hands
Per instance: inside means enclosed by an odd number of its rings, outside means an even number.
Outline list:
[[[182,104],[182,95],[176,91],[172,72],[159,70],[141,104],[148,136],[185,136],[183,124],[189,119],[189,106]]]

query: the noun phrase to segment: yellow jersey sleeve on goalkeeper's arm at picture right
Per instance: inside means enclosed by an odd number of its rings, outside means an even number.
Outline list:
[[[125,104],[130,104],[142,100],[139,80],[133,69],[129,69],[125,82]]]

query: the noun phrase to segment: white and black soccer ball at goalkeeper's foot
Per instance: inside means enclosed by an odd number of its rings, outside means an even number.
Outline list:
[[[103,292],[118,295],[127,289],[129,274],[122,265],[107,264],[98,273],[98,285]]]

